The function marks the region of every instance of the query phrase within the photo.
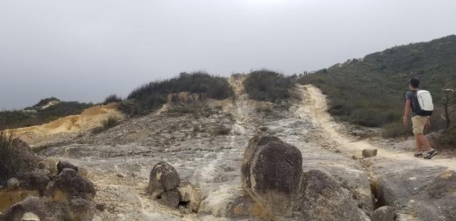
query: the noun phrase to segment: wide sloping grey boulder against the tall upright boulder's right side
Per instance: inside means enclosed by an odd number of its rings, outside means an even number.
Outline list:
[[[328,173],[310,170],[302,174],[296,203],[296,220],[366,220],[350,192]]]

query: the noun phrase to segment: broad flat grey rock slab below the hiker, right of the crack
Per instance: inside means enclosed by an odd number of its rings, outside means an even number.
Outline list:
[[[456,175],[439,166],[423,165],[418,160],[379,161],[372,166],[377,173],[375,192],[381,205],[400,210],[396,216],[412,214],[416,220],[445,217],[456,220]]]

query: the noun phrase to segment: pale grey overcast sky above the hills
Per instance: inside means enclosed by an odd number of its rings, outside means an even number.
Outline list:
[[[456,33],[456,1],[0,0],[0,109],[100,102],[179,72],[327,68]]]

